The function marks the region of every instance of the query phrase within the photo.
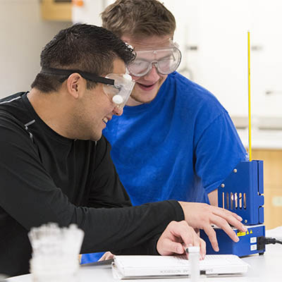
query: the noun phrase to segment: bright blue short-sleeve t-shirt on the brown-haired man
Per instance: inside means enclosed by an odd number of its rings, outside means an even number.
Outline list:
[[[103,132],[133,205],[209,202],[245,148],[213,94],[177,72],[148,104],[125,106]]]

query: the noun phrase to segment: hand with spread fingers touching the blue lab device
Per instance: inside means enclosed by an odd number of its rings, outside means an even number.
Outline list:
[[[238,242],[239,238],[231,226],[243,232],[247,231],[247,228],[240,222],[242,218],[227,209],[195,202],[179,202],[179,204],[183,209],[185,221],[192,228],[203,229],[216,252],[219,251],[219,244],[212,224],[223,229],[234,242]]]

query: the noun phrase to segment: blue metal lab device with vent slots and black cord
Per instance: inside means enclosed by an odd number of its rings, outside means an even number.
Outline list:
[[[265,252],[265,247],[258,243],[259,237],[265,235],[264,226],[264,177],[263,161],[241,161],[221,183],[218,189],[219,207],[228,209],[243,218],[246,232],[233,231],[240,241],[233,242],[221,229],[214,227],[219,242],[219,252],[214,252],[209,238],[204,231],[200,236],[207,243],[208,255],[247,255]]]

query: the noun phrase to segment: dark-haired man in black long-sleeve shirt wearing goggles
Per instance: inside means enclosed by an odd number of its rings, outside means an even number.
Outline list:
[[[204,255],[193,228],[216,249],[211,223],[238,240],[228,223],[243,224],[224,209],[174,200],[131,207],[102,130],[123,112],[134,58],[108,30],[73,25],[44,47],[30,92],[0,100],[0,273],[28,273],[27,233],[48,222],[82,228],[82,253],[172,255],[192,244]]]

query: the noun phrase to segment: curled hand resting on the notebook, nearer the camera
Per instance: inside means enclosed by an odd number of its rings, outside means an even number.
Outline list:
[[[171,221],[157,242],[157,251],[160,255],[187,255],[185,249],[190,246],[199,246],[200,258],[204,259],[206,243],[194,228],[186,221]]]

